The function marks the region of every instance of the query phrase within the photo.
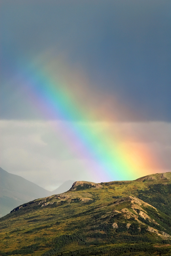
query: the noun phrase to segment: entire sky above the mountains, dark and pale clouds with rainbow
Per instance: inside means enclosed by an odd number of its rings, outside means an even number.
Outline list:
[[[171,171],[170,0],[0,0],[0,166],[45,189]]]

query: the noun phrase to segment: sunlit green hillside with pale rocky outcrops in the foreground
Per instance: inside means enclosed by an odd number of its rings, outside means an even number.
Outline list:
[[[0,255],[171,255],[171,172],[76,181],[0,218]]]

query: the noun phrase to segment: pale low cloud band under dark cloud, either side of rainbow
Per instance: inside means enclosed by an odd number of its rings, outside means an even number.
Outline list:
[[[0,166],[39,186],[53,190],[66,180],[101,182],[91,174],[89,159],[78,157],[61,139],[61,122],[1,120]],[[171,123],[167,122],[80,122],[80,126],[105,133],[121,133],[120,144],[148,147],[161,163],[161,169],[171,170]],[[55,127],[55,130],[54,130]],[[93,164],[93,163],[91,163]],[[134,174],[137,178],[137,174]]]

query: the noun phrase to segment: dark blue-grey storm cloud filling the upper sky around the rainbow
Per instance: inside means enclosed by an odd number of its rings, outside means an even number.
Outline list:
[[[1,0],[1,118],[37,118],[14,83],[21,58],[54,47],[143,120],[171,121],[169,0]]]

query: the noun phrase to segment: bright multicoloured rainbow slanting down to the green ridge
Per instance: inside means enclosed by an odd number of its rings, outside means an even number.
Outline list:
[[[50,68],[37,64],[20,66],[20,77],[29,88],[34,108],[47,119],[61,120],[61,137],[71,154],[85,160],[90,180],[97,177],[102,182],[131,180],[148,175],[157,167],[157,160],[149,148],[132,143],[123,145],[120,131],[103,129],[109,122],[117,122],[118,113],[107,113],[107,121],[98,121],[101,110],[90,111],[78,100],[77,93],[91,95],[90,87],[78,85],[76,93],[72,84],[58,79]],[[93,121],[97,125],[86,125]],[[51,128],[55,133],[55,127]]]

